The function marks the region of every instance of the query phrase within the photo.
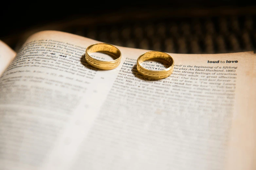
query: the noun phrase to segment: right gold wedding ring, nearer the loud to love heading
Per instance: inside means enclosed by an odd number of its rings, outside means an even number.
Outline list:
[[[157,60],[161,62],[168,63],[170,66],[164,70],[161,71],[151,71],[148,69],[143,68],[140,64],[146,60]],[[139,58],[137,59],[137,70],[145,77],[147,78],[153,78],[153,79],[162,79],[167,78],[170,76],[174,69],[174,60],[173,58],[164,53],[159,51],[149,51],[144,54],[141,54]]]

